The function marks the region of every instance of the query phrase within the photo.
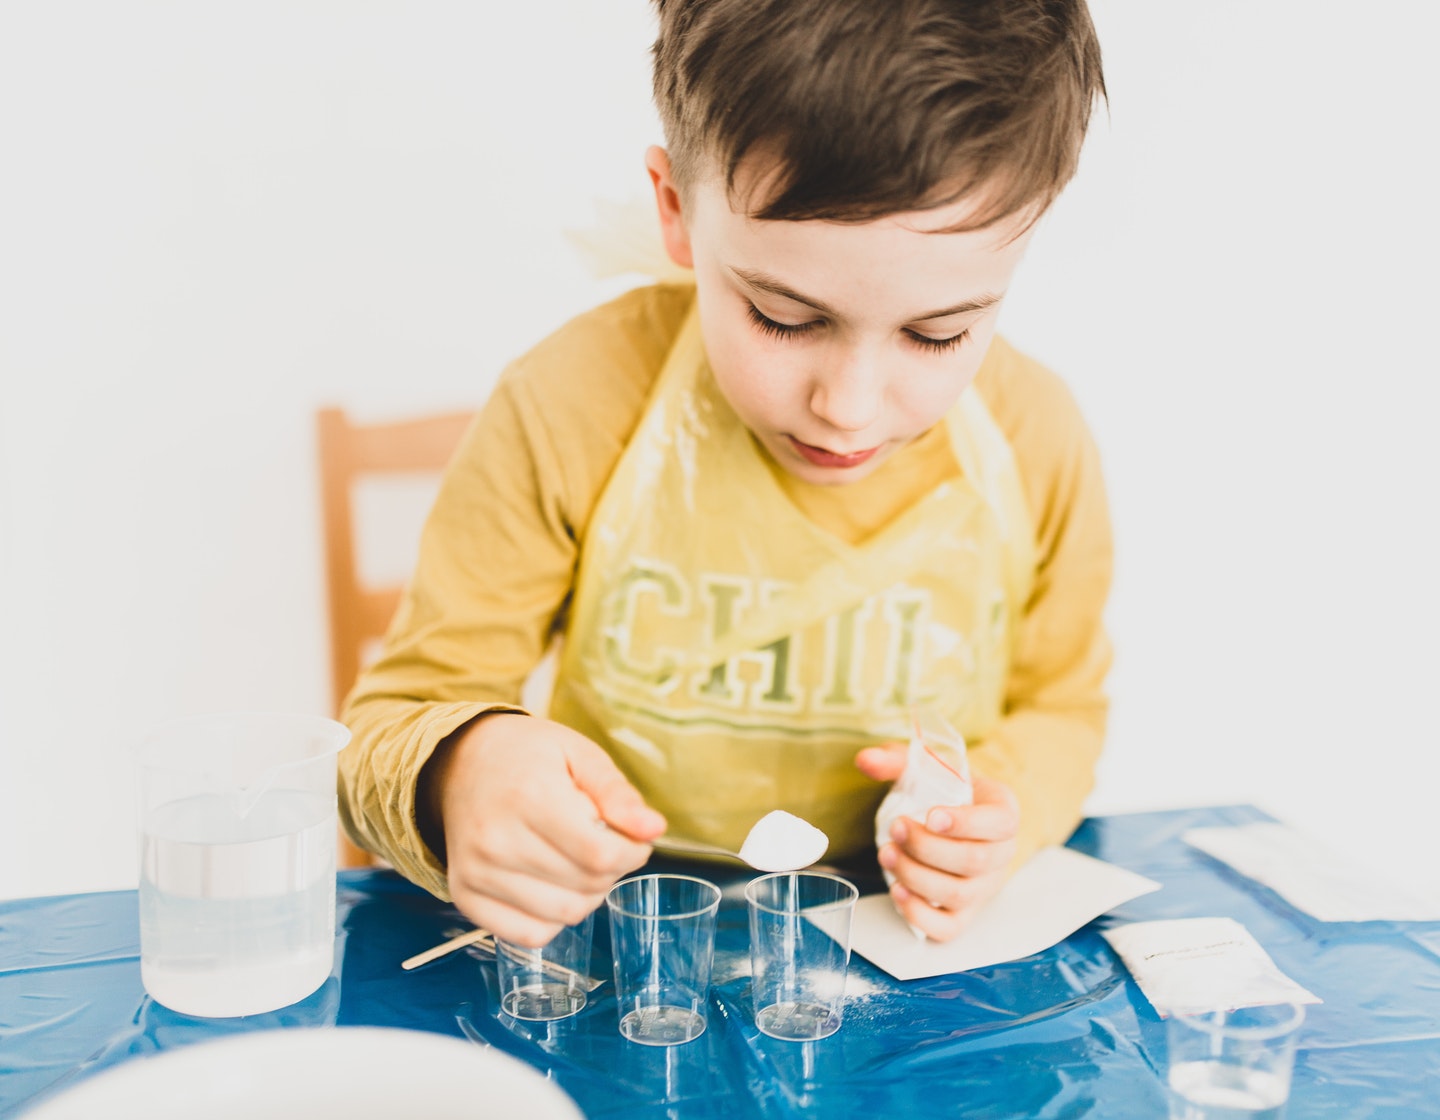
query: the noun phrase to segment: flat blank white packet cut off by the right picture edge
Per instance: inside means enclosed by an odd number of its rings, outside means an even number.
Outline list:
[[[1440,898],[1390,882],[1277,821],[1192,828],[1182,839],[1320,921],[1440,921]]]

